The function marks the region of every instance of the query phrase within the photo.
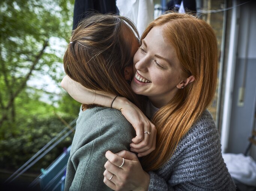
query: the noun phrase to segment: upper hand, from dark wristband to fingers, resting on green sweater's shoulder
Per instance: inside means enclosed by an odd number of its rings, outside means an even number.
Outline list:
[[[113,107],[121,111],[124,117],[132,124],[136,137],[130,144],[131,151],[138,153],[138,157],[151,153],[156,148],[156,127],[132,102],[124,97],[117,97]],[[150,132],[150,135],[144,132]]]

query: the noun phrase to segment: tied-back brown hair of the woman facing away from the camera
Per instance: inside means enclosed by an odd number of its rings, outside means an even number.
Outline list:
[[[138,36],[136,26],[126,17],[91,15],[72,32],[64,70],[88,89],[126,97],[140,107],[124,78],[124,68],[133,63],[131,48]]]

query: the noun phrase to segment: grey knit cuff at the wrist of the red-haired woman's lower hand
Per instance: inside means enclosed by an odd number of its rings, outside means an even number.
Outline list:
[[[149,183],[148,191],[168,190],[168,186],[163,178],[161,178],[154,172],[148,172],[148,174],[150,175],[150,183]]]

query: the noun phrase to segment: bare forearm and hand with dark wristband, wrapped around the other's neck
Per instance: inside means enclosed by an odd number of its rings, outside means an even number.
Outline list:
[[[61,86],[73,99],[84,104],[99,104],[111,107],[115,98],[113,94],[89,90],[68,76],[63,78]],[[132,139],[133,143],[130,144],[131,150],[138,153],[138,157],[145,156],[155,150],[156,128],[141,110],[124,97],[117,97],[112,107],[120,110],[136,131],[136,137]],[[151,134],[144,132],[150,132]]]

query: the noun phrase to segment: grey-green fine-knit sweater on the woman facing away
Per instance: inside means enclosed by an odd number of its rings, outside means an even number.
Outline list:
[[[129,150],[135,130],[120,111],[94,107],[80,109],[76,121],[64,190],[108,191],[103,182],[106,151]]]

